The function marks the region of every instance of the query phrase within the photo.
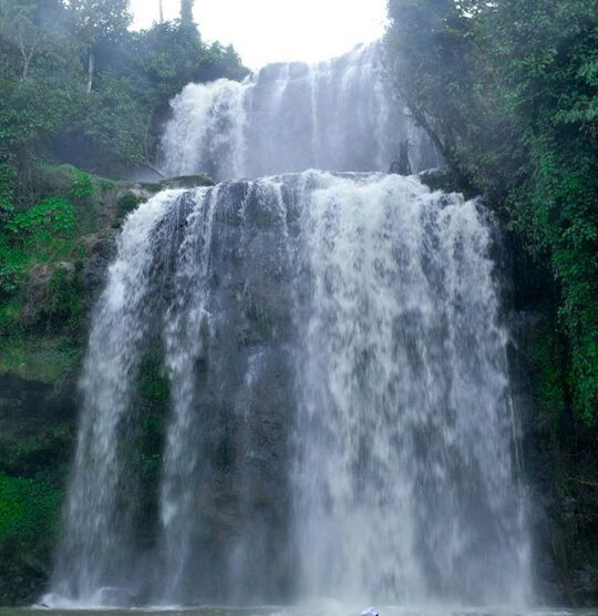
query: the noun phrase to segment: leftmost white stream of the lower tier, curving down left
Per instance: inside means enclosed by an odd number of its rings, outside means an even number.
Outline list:
[[[117,572],[130,568],[128,543],[134,490],[126,476],[126,421],[144,342],[153,326],[154,251],[172,228],[156,225],[179,197],[164,192],[128,217],[118,238],[117,258],[92,318],[81,378],[83,413],[59,550],[53,591],[91,599],[102,587],[122,585]],[[131,452],[128,452],[131,453]],[[125,576],[126,579],[126,576]]]

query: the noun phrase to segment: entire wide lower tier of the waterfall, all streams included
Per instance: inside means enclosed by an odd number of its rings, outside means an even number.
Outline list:
[[[53,593],[525,600],[496,237],[477,202],[377,173],[142,204],[93,316]],[[131,466],[150,346],[171,393],[148,545]]]

